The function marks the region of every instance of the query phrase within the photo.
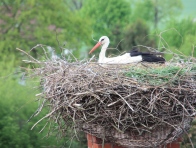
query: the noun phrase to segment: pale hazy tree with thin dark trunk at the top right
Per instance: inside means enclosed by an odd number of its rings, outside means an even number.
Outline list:
[[[142,10],[142,11],[141,11]],[[144,19],[154,24],[154,29],[164,21],[168,21],[178,15],[182,10],[181,0],[145,0],[137,1],[133,10],[132,19]],[[161,25],[162,27],[163,25]]]

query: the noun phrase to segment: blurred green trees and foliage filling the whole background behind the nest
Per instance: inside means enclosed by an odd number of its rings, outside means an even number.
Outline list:
[[[27,123],[39,105],[35,102],[39,89],[32,88],[37,82],[24,79],[20,67],[29,65],[21,62],[26,57],[16,47],[29,52],[37,44],[43,44],[52,55],[61,56],[63,49],[64,55],[71,52],[83,59],[88,58],[88,51],[95,44],[93,39],[107,35],[110,47],[118,48],[109,54],[143,45],[191,55],[196,50],[195,5],[193,0],[1,0],[0,147],[70,145],[69,138],[57,142],[56,135],[47,138],[47,130],[39,133],[44,122],[30,130],[44,111]],[[40,48],[30,54],[41,58],[42,52]],[[196,57],[196,51],[193,56]],[[169,60],[172,55],[165,57]],[[194,128],[189,136],[196,143]],[[85,148],[82,136],[71,147]]]

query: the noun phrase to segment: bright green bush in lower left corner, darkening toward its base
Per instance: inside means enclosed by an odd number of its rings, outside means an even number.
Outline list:
[[[33,122],[38,118],[26,123],[36,109],[37,103],[33,102],[35,92],[19,85],[18,79],[10,77],[1,79],[0,85],[0,147],[30,148],[48,145],[48,140],[41,140],[46,132],[38,134],[41,127],[30,131]],[[51,141],[50,143],[52,144]],[[53,143],[56,142],[53,141]]]

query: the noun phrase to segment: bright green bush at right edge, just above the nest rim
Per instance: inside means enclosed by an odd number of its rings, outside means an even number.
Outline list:
[[[162,33],[161,46],[173,53],[196,57],[196,23],[191,18],[170,21]],[[170,55],[166,55],[169,59]]]

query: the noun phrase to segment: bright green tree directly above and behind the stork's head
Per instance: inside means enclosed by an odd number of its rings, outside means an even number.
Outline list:
[[[80,12],[91,21],[96,38],[107,35],[111,46],[116,46],[122,39],[124,27],[130,22],[131,7],[126,0],[86,0]]]

